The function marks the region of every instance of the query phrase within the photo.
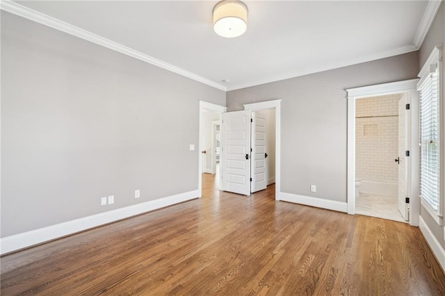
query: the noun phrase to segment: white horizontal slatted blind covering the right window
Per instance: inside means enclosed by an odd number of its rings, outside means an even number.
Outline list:
[[[439,210],[439,67],[430,65],[420,85],[420,195]]]

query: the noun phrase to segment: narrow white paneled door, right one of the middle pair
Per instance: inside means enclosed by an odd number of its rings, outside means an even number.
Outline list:
[[[267,187],[266,180],[266,116],[252,112],[252,162],[251,172],[252,184],[250,191],[257,192]]]

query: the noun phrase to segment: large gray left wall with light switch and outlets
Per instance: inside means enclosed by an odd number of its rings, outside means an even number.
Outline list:
[[[196,190],[200,99],[225,92],[2,11],[1,237]]]

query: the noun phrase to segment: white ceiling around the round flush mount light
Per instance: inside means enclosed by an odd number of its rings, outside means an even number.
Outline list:
[[[434,16],[428,1],[245,1],[248,31],[225,39],[217,2],[17,1],[227,90],[414,51]]]

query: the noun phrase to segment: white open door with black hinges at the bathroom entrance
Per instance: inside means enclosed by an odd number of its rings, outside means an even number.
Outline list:
[[[409,218],[410,198],[410,116],[408,94],[398,101],[398,211],[404,220]]]

